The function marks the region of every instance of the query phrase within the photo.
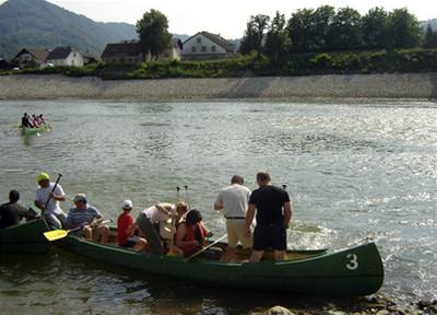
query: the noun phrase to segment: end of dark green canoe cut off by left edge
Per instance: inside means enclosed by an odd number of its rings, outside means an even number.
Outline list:
[[[46,254],[50,243],[43,233],[49,230],[43,219],[0,229],[0,254]]]

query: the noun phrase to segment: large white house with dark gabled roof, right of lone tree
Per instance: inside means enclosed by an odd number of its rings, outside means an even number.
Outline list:
[[[213,59],[235,56],[234,46],[217,34],[199,32],[184,42],[182,59]]]

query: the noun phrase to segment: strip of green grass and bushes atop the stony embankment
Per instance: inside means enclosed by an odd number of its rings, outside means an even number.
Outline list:
[[[154,61],[3,71],[2,74],[94,75],[114,79],[241,78],[311,74],[437,72],[437,49],[292,54],[273,61],[256,55],[209,61]]]

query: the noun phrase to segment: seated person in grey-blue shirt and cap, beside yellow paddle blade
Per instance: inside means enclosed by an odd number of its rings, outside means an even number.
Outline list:
[[[93,234],[96,234],[97,241],[107,243],[109,226],[101,224],[104,218],[97,209],[87,203],[86,195],[75,195],[73,202],[75,207],[70,208],[67,217],[67,226],[69,229],[82,226],[82,233],[86,240],[93,241]]]

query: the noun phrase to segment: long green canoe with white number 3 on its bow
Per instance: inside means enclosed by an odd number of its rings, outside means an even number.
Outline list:
[[[359,296],[375,293],[383,281],[383,266],[375,243],[354,245],[332,253],[326,249],[288,250],[285,261],[267,260],[258,264],[223,262],[203,257],[186,261],[180,257],[135,253],[117,245],[90,242],[75,235],[58,241],[57,245],[101,262],[189,281],[249,290]],[[223,243],[221,245],[226,246]],[[216,248],[217,252],[221,249]]]

